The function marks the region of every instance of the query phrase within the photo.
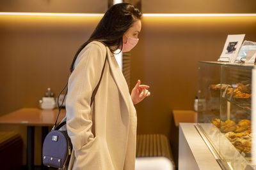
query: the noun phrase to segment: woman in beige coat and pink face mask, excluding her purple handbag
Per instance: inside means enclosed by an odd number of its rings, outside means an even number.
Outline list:
[[[127,52],[138,43],[140,19],[141,12],[131,4],[111,6],[74,57],[66,101],[67,131],[73,145],[68,169],[134,169],[134,104],[150,92],[138,80],[130,96],[113,53],[118,48]],[[102,80],[90,106],[106,55]]]

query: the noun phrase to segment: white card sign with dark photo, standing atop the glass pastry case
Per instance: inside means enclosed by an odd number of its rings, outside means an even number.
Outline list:
[[[235,62],[237,53],[243,43],[245,34],[228,35],[220,61]]]

